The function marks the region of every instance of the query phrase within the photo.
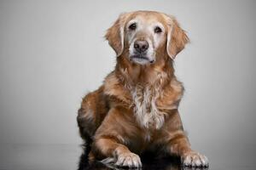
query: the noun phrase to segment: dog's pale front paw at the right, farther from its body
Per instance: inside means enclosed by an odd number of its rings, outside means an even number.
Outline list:
[[[207,156],[203,156],[196,151],[189,151],[182,157],[182,163],[185,167],[208,167],[209,161]]]

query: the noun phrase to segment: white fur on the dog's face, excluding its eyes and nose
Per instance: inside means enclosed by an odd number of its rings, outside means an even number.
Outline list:
[[[136,30],[130,30],[129,26],[136,24]],[[156,26],[159,26],[162,32],[155,33],[154,29]],[[144,20],[142,17],[137,17],[134,20],[130,20],[126,25],[126,38],[129,43],[129,53],[130,59],[140,65],[146,65],[148,63],[154,63],[155,61],[155,51],[160,47],[160,44],[165,39],[165,28],[157,20]],[[143,53],[143,58],[133,58],[132,56],[137,55],[137,51],[134,48],[134,42],[143,39],[148,42],[148,49]]]

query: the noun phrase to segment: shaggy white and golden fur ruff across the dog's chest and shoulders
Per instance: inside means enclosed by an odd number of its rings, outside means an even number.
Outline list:
[[[160,77],[161,78],[161,77]],[[166,111],[177,109],[183,94],[183,86],[176,79],[161,88],[161,83],[127,88],[110,74],[105,80],[105,94],[126,103],[133,109],[137,123],[143,128],[160,129],[164,125]]]

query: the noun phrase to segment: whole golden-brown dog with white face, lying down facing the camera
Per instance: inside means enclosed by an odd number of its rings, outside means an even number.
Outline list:
[[[150,150],[180,156],[186,167],[208,167],[207,157],[191,149],[178,113],[184,88],[173,59],[189,37],[175,17],[120,14],[105,37],[117,64],[102,86],[84,97],[77,116],[89,159],[142,167],[140,155]]]

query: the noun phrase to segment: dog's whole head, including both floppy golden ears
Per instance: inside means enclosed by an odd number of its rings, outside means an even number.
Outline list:
[[[154,11],[120,14],[105,37],[117,56],[125,54],[140,65],[153,64],[165,54],[174,59],[189,42],[174,17]]]

